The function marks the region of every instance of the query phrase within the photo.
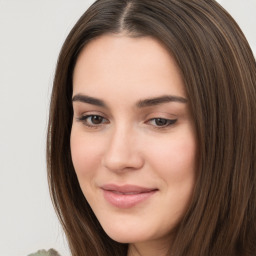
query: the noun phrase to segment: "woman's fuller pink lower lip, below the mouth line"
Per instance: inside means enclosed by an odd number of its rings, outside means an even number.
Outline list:
[[[118,194],[113,191],[103,190],[104,198],[113,206],[118,208],[131,208],[149,199],[157,190],[138,194]]]

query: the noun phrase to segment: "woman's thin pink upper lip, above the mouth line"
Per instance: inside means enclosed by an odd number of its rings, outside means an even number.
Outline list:
[[[147,187],[141,187],[137,185],[116,185],[116,184],[106,184],[101,186],[101,189],[107,190],[107,191],[114,191],[118,193],[146,193],[150,191],[157,190],[156,188],[147,188]]]

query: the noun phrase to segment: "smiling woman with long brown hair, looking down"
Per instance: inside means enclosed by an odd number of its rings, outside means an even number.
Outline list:
[[[255,84],[215,1],[96,1],[63,45],[50,108],[72,255],[255,255]]]

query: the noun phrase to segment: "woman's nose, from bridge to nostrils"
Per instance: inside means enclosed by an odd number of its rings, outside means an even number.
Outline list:
[[[117,128],[108,134],[109,140],[102,164],[114,172],[138,170],[144,165],[138,137],[132,129]],[[137,139],[136,139],[137,138]]]

